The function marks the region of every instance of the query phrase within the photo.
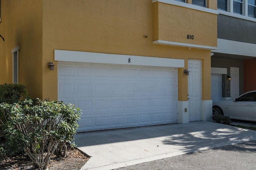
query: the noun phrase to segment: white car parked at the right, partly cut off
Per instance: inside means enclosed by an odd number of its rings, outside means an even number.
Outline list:
[[[212,114],[222,114],[231,119],[256,121],[256,90],[246,92],[235,100],[213,102]]]

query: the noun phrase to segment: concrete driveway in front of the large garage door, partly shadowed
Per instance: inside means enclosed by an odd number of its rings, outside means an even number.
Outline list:
[[[256,140],[256,131],[209,121],[78,133],[78,149],[92,156],[81,170],[111,170]]]

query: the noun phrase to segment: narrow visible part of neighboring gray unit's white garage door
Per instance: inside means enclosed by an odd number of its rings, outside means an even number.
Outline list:
[[[222,74],[211,74],[211,96],[212,102],[222,99]]]

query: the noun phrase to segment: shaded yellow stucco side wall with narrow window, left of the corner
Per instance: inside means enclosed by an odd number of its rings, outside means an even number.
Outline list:
[[[12,83],[12,53],[19,46],[19,83],[42,97],[42,0],[1,0],[0,84]]]

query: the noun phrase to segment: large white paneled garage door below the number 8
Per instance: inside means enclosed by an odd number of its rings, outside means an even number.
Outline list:
[[[82,109],[81,131],[176,123],[177,69],[58,63],[58,100]]]

